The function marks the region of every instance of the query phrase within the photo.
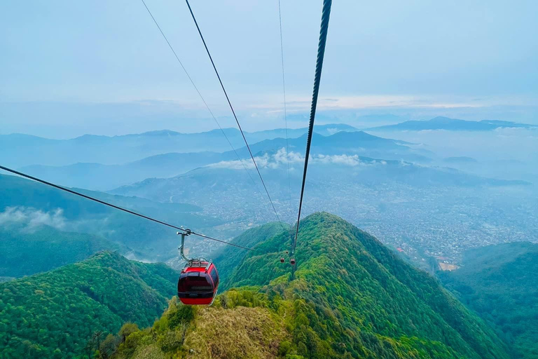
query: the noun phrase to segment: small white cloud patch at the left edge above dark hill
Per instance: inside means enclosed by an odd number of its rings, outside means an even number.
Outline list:
[[[51,226],[55,229],[64,229],[66,220],[61,208],[50,212],[25,207],[8,207],[0,212],[0,225],[22,224],[26,229],[33,230],[41,225]]]

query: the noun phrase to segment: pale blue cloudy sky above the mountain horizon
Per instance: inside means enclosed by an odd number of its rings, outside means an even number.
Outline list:
[[[184,1],[145,0],[223,127]],[[322,0],[281,0],[289,126],[306,124]],[[278,0],[192,0],[242,127],[284,126]],[[319,123],[538,123],[537,1],[333,1]],[[142,1],[2,1],[0,134],[216,127]],[[388,116],[393,115],[393,116]]]

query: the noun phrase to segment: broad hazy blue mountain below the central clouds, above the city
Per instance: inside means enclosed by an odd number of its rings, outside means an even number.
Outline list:
[[[275,156],[268,156],[267,163],[260,170],[265,184],[274,198],[287,199],[287,168],[285,163],[276,163]],[[292,167],[297,163],[292,163]],[[299,163],[301,165],[301,163]],[[254,175],[254,174],[253,174]],[[302,173],[292,170],[291,191],[299,191]],[[255,177],[256,181],[257,178]],[[466,172],[443,167],[415,165],[404,161],[378,160],[362,156],[317,155],[312,154],[308,172],[308,193],[323,202],[326,191],[345,191],[366,186],[371,189],[387,183],[428,187],[476,187],[525,185],[528,182],[489,179]],[[264,198],[252,196],[258,188],[238,163],[217,163],[205,168],[197,168],[171,178],[150,178],[142,182],[119,187],[110,191],[121,196],[139,196],[152,201],[167,201],[181,198],[192,203],[213,203],[212,207],[243,205],[252,201],[259,206]]]

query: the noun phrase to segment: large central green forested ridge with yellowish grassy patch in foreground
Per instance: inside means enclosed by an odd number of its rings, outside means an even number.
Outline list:
[[[214,306],[172,301],[113,358],[509,358],[488,325],[427,273],[328,213],[301,223],[297,268],[279,259],[289,233],[261,241]],[[255,243],[251,238],[251,243]]]

